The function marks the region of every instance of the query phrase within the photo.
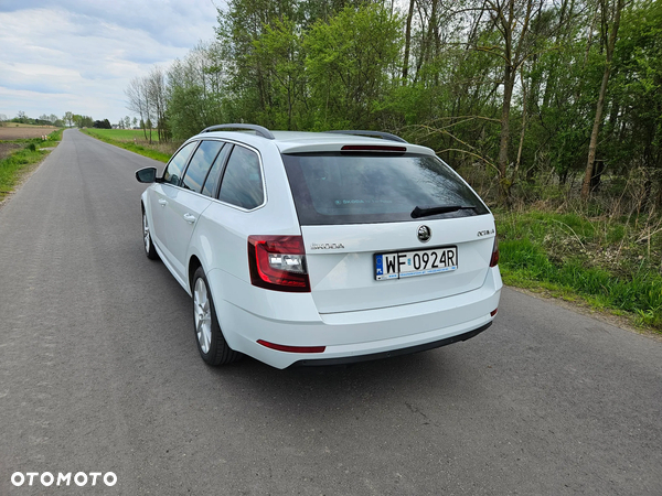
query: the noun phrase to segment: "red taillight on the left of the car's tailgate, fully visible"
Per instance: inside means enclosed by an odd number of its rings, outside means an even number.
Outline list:
[[[274,291],[310,292],[301,236],[248,236],[250,283]]]

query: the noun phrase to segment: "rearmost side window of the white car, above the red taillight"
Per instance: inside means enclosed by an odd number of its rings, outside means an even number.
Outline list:
[[[218,200],[249,211],[261,205],[264,197],[257,154],[246,148],[235,147],[223,174]]]

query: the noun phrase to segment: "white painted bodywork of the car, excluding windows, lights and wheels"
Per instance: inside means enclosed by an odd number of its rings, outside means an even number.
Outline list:
[[[485,214],[456,218],[301,225],[282,159],[339,152],[346,145],[394,144],[406,148],[404,155],[434,158],[431,150],[362,136],[286,131],[273,136],[223,130],[188,141],[220,140],[256,153],[264,201],[255,208],[164,182],[154,182],[141,196],[153,247],[191,295],[193,273],[202,267],[232,351],[276,368],[349,363],[463,341],[492,323],[502,282],[493,260],[494,219],[484,204]],[[466,185],[459,176],[457,181]],[[421,225],[431,230],[425,244],[417,238]],[[309,291],[255,285],[249,236],[302,238]],[[375,254],[449,246],[457,247],[455,270],[375,279]]]

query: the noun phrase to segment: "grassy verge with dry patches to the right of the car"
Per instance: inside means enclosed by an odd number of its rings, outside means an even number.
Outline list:
[[[544,212],[495,216],[506,284],[579,298],[662,332],[662,235],[641,242],[650,226]]]

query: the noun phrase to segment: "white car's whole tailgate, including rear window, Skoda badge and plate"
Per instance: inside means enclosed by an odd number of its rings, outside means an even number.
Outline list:
[[[284,153],[320,313],[417,303],[480,288],[494,220],[425,153]]]

